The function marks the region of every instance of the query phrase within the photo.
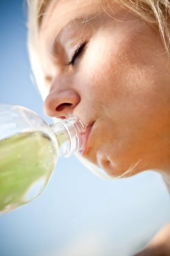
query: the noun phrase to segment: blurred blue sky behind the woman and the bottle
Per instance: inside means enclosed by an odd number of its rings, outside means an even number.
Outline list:
[[[0,2],[0,33],[0,103],[52,122],[30,79],[22,0]],[[61,158],[39,198],[0,218],[0,255],[130,256],[168,220],[170,196],[154,172],[106,181]]]

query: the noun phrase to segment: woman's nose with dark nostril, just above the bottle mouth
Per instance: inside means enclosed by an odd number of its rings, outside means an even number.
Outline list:
[[[68,81],[66,81],[68,83]],[[75,107],[80,102],[79,94],[69,84],[65,86],[63,81],[52,84],[50,92],[44,102],[44,113],[47,116],[69,118],[73,116]]]

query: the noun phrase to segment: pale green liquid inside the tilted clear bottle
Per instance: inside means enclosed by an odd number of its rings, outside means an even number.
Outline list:
[[[0,141],[0,215],[36,198],[57,162],[51,134],[27,132]]]

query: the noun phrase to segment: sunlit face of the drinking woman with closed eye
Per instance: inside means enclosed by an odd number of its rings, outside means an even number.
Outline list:
[[[170,66],[157,29],[108,0],[52,0],[40,27],[48,116],[93,125],[83,154],[109,175],[170,166]]]

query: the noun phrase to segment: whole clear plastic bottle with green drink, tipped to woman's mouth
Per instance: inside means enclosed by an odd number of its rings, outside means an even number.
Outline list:
[[[85,128],[76,117],[48,125],[27,108],[0,105],[0,215],[40,195],[57,159],[84,149]]]

